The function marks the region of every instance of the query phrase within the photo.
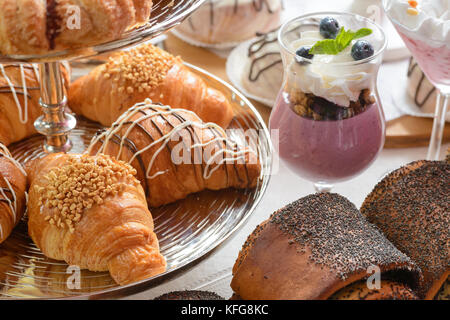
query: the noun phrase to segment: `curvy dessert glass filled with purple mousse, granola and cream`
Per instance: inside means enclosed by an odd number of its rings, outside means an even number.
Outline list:
[[[352,30],[372,29],[367,39],[374,54],[347,62],[316,62],[296,55],[302,34],[317,30],[326,16]],[[386,38],[369,19],[327,12],[287,22],[278,40],[285,72],[270,117],[272,140],[289,169],[312,181],[318,192],[327,192],[334,183],[367,169],[384,146],[385,120],[376,82]]]

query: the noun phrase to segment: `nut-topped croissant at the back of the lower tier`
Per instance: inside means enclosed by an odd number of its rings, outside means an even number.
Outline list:
[[[70,86],[69,106],[77,114],[111,126],[136,103],[150,98],[194,111],[223,128],[233,119],[227,98],[175,58],[151,44],[114,54]]]

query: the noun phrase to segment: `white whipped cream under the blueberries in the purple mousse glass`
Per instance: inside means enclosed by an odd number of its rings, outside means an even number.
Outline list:
[[[291,46],[297,50],[303,46],[313,46],[323,40],[318,31],[302,32],[301,38]],[[288,81],[290,87],[298,87],[304,93],[312,93],[342,107],[349,107],[351,101],[357,101],[361,91],[373,87],[378,63],[339,65],[343,62],[355,62],[351,56],[352,45],[337,55],[316,54],[310,64],[292,61]]]

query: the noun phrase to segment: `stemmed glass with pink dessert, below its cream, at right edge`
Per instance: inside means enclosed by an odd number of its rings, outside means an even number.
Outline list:
[[[445,41],[445,39],[433,38],[433,35],[430,34],[421,34],[421,27],[417,27],[417,30],[412,30],[411,26],[406,26],[400,22],[390,14],[389,8],[391,8],[392,4],[392,0],[383,0],[387,16],[394,24],[397,32],[428,80],[438,89],[433,130],[427,155],[428,160],[438,160],[445,128],[445,115],[450,100],[450,43]],[[404,14],[408,15],[406,8]],[[408,18],[413,19],[413,17]],[[432,19],[431,16],[428,18]],[[437,18],[435,19],[438,21]]]

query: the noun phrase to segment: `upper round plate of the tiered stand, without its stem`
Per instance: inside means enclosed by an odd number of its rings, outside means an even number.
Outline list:
[[[149,21],[136,29],[125,32],[120,39],[88,48],[70,48],[52,51],[45,55],[0,55],[0,62],[50,62],[90,57],[119,50],[157,37],[180,24],[205,0],[153,0]]]

